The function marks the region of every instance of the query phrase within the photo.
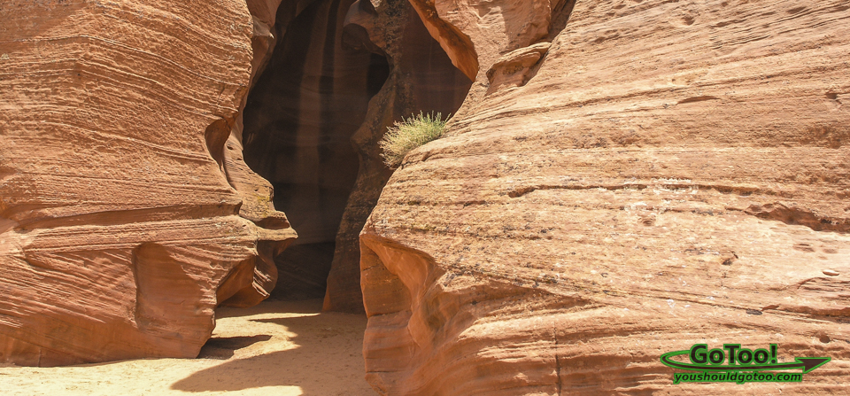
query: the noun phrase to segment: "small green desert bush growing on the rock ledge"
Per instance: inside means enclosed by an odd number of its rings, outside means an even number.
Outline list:
[[[408,152],[439,139],[443,136],[445,123],[450,116],[451,114],[441,120],[440,113],[434,115],[419,112],[419,115],[411,114],[410,118],[402,118],[392,127],[388,127],[387,133],[381,139],[383,162],[390,168],[396,168],[401,165],[401,160],[405,159]]]

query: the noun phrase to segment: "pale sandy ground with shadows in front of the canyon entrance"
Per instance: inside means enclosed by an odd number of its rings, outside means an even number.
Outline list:
[[[0,394],[375,395],[363,379],[366,316],[321,313],[321,300],[221,308],[198,359],[62,368],[0,367]]]

